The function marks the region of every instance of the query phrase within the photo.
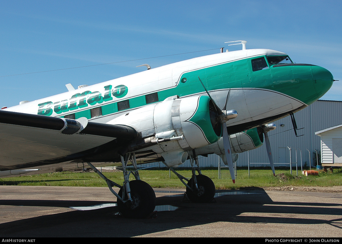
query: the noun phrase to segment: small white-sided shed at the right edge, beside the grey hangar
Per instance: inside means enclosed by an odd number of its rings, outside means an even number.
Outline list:
[[[315,132],[321,137],[322,166],[342,166],[342,125]]]

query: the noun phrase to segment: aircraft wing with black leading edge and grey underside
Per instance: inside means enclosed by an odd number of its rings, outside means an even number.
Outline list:
[[[113,160],[113,149],[117,153],[136,137],[136,130],[124,125],[0,111],[0,171],[75,159],[87,162],[87,157],[104,152],[106,159]]]

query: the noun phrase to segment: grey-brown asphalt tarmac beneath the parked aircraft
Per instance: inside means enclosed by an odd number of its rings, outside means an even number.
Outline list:
[[[0,237],[342,237],[341,193],[154,190],[156,217],[126,219],[108,188],[0,186]]]

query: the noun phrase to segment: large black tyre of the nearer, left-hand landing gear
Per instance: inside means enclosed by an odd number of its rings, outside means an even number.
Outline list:
[[[132,180],[129,182],[131,188],[132,202],[123,203],[117,200],[120,213],[127,218],[146,218],[156,207],[156,194],[152,187],[142,180]],[[122,188],[119,191],[122,196]],[[127,194],[124,200],[128,198]]]

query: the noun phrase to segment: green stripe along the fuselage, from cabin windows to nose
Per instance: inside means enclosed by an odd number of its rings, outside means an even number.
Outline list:
[[[184,83],[179,82],[176,87],[158,91],[158,99],[159,101],[163,101],[175,94],[184,97],[204,92],[205,90],[199,82],[198,77],[201,78],[203,84],[209,91],[230,88],[268,89],[284,93],[307,105],[316,101],[330,88],[327,89],[325,84],[317,84],[317,81],[314,81],[312,78],[312,73],[319,72],[319,69],[324,69],[322,67],[305,65],[284,67],[271,66],[263,70],[252,72],[251,60],[255,58],[257,57],[184,73],[181,75],[180,80],[183,81],[183,79],[186,78],[186,81]],[[318,89],[320,85],[322,87],[321,90]],[[153,92],[156,91],[152,91],[151,93]],[[127,99],[130,101],[129,109],[146,105],[145,95]],[[108,102],[107,104],[102,105],[102,115],[118,112],[117,102],[109,104]],[[91,108],[94,107],[95,106],[92,106]],[[76,112],[76,118],[87,117],[90,119],[91,116],[89,111],[90,109],[88,108],[88,110]]]

